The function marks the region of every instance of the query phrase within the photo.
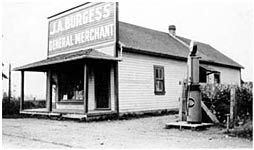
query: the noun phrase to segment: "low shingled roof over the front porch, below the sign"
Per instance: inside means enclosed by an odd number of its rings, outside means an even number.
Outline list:
[[[60,64],[81,59],[99,59],[109,61],[119,61],[119,58],[104,54],[95,49],[80,50],[77,52],[62,54],[47,59],[33,62],[24,66],[16,67],[14,71],[42,71],[49,65]]]

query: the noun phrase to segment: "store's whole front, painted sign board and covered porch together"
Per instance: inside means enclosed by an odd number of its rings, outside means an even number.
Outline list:
[[[49,17],[47,59],[18,67],[47,73],[46,112],[116,113],[117,3],[85,3]],[[29,110],[26,110],[27,112]]]

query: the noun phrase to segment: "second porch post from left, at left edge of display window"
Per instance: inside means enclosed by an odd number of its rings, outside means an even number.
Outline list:
[[[46,90],[46,108],[48,112],[52,111],[52,87],[51,87],[51,70],[47,72],[47,90]]]

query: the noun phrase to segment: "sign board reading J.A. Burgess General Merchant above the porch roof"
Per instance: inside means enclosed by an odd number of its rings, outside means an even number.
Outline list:
[[[48,56],[94,48],[115,56],[117,3],[88,3],[49,20]]]

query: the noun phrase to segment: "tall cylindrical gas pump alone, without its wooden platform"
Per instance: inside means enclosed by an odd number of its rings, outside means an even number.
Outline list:
[[[201,123],[201,96],[199,88],[199,59],[197,44],[191,41],[187,61],[187,123]]]

